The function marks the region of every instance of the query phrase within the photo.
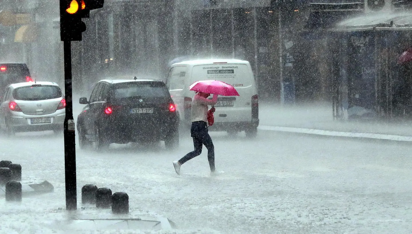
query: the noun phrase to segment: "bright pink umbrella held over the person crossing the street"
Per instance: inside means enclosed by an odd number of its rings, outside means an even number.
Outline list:
[[[222,96],[240,96],[236,89],[219,80],[200,80],[189,86],[189,90]]]

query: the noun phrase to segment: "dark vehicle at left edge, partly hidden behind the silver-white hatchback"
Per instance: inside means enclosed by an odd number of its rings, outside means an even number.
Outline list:
[[[32,81],[25,63],[0,63],[0,99],[9,85]]]

